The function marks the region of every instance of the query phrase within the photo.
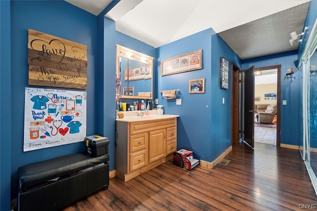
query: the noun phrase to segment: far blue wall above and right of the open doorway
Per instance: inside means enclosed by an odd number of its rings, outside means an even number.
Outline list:
[[[297,69],[294,60],[297,54],[289,53],[278,54],[275,56],[263,56],[242,61],[242,69],[247,69],[252,65],[255,67],[264,67],[281,64],[281,101],[286,100],[287,105],[282,106],[278,102],[281,112],[281,144],[290,144],[299,146],[300,140],[303,139],[303,121],[302,121],[302,69]],[[295,79],[284,80],[288,73],[287,69],[293,68]]]

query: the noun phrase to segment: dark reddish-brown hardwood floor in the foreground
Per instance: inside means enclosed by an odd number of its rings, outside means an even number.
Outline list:
[[[317,196],[298,150],[255,143],[233,146],[227,165],[192,171],[166,162],[127,182],[111,178],[108,190],[63,211],[300,210]]]

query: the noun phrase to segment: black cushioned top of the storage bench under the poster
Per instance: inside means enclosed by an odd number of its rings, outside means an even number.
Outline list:
[[[23,190],[108,160],[108,154],[92,157],[84,152],[30,163],[18,169],[19,187]]]

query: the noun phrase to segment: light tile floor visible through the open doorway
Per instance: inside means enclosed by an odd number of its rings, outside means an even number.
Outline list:
[[[276,145],[276,129],[254,127],[254,142]]]

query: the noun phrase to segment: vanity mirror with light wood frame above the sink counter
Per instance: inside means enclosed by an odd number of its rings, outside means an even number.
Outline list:
[[[116,74],[121,78],[121,98],[153,99],[153,58],[116,45]]]

